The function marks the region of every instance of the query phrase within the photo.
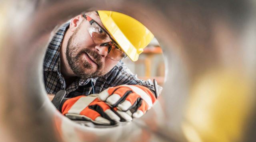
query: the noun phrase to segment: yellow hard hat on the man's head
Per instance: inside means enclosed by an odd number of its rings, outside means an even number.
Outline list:
[[[98,11],[102,24],[132,61],[154,38],[154,35],[138,20],[114,11]]]

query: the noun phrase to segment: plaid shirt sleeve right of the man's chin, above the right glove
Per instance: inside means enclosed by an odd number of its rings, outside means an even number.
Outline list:
[[[153,82],[148,80],[140,80],[136,74],[133,74],[130,69],[122,62],[118,62],[118,64],[104,77],[103,85],[101,86],[103,90],[108,87],[119,86],[123,84],[127,85],[141,85],[149,88],[152,92],[155,92]],[[101,79],[98,79],[99,81]],[[159,92],[162,91],[162,87],[158,86]]]

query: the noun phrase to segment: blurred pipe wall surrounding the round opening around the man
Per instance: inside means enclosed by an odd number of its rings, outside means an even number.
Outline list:
[[[255,0],[1,3],[0,141],[255,141]],[[130,124],[82,126],[46,98],[42,62],[51,31],[92,10],[136,18],[163,48],[164,90],[154,108]]]

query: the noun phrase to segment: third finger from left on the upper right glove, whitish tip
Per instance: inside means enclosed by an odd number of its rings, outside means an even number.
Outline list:
[[[117,108],[122,111],[127,111],[130,108],[133,108],[134,106],[136,106],[139,101],[140,101],[140,95],[131,93],[126,97],[124,102],[122,102],[121,104],[118,104]]]

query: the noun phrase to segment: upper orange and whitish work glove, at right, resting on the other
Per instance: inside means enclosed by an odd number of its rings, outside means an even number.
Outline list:
[[[121,121],[131,121],[140,118],[149,110],[156,96],[148,88],[140,85],[120,85],[110,87],[98,94],[99,99],[105,101],[116,110]]]

